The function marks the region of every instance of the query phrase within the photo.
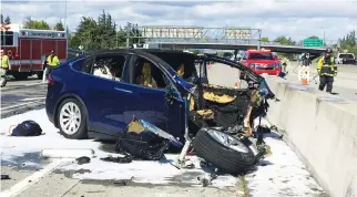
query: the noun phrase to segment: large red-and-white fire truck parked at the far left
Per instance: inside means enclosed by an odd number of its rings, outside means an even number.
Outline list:
[[[1,49],[10,60],[9,75],[26,80],[43,76],[43,63],[53,50],[61,62],[67,60],[65,31],[22,29],[20,24],[1,25]]]

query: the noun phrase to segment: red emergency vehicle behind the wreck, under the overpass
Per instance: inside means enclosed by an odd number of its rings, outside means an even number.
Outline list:
[[[282,72],[280,61],[271,50],[247,50],[241,63],[257,74],[278,75]]]

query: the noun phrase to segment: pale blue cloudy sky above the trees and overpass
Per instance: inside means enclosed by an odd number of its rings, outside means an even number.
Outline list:
[[[326,41],[357,29],[356,8],[357,0],[1,1],[1,13],[10,15],[12,23],[31,17],[53,25],[65,18],[71,31],[82,17],[98,18],[104,9],[122,25],[248,27],[262,29],[263,37],[271,40],[279,35],[294,40],[325,35]]]

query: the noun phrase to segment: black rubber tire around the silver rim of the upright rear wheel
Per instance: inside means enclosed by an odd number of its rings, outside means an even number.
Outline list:
[[[63,128],[63,126],[61,125],[61,111],[63,108],[63,106],[65,106],[67,104],[74,104],[81,114],[81,118],[80,118],[80,126],[78,127],[76,132],[74,132],[73,134],[69,134],[68,132],[65,132],[65,129]],[[88,138],[88,131],[86,131],[86,112],[84,111],[84,107],[82,106],[82,104],[74,98],[65,98],[59,106],[58,111],[57,111],[57,123],[58,123],[58,127],[60,128],[61,134],[65,137],[65,138],[71,138],[71,139],[83,139],[83,138]]]

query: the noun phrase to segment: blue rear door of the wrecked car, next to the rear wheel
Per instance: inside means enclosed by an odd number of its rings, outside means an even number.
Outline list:
[[[82,83],[88,83],[86,85],[89,86],[84,95],[86,98],[85,105],[89,111],[90,126],[95,132],[115,135],[126,126],[124,111],[130,91],[125,90],[124,72],[120,74],[120,81],[115,81],[101,75],[94,75],[94,70],[101,66],[99,64],[102,64],[103,61],[114,59],[118,62],[114,61],[115,63],[113,64],[121,68],[121,71],[125,71],[128,58],[123,53],[110,53],[99,54],[89,60],[89,63],[92,62],[92,65],[90,71],[88,71],[88,81]]]

